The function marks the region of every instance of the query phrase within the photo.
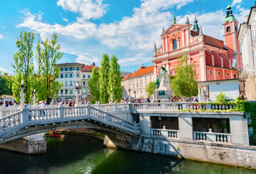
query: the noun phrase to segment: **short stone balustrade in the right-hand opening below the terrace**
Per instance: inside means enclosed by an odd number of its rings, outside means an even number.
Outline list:
[[[193,140],[211,141],[220,143],[231,143],[231,136],[228,133],[196,132],[193,131]]]

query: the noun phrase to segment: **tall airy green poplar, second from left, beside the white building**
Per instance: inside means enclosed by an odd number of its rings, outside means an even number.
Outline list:
[[[52,98],[56,97],[56,92],[62,88],[62,84],[56,80],[60,73],[60,68],[56,66],[63,53],[60,52],[57,34],[52,35],[52,40],[40,40],[36,45],[36,62],[38,71],[36,73],[36,93],[38,100],[45,100],[50,103]]]

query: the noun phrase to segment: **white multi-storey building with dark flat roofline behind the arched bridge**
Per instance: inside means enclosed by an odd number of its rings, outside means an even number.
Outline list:
[[[81,101],[81,68],[84,66],[84,64],[64,63],[56,64],[56,66],[61,69],[57,80],[58,82],[63,83],[63,87],[59,92],[57,92],[55,101],[75,101],[76,83],[79,85],[79,101]]]

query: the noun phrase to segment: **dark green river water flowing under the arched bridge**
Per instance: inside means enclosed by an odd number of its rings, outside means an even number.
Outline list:
[[[0,173],[256,173],[232,166],[103,148],[103,140],[91,136],[61,135],[47,139],[45,155],[0,150]]]

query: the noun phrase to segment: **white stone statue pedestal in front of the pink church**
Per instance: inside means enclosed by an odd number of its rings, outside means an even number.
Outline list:
[[[163,72],[159,88],[155,91],[153,103],[157,103],[157,100],[160,99],[161,102],[171,102],[170,98],[172,97],[172,89],[170,87],[170,80],[168,73]]]

